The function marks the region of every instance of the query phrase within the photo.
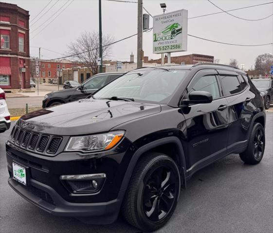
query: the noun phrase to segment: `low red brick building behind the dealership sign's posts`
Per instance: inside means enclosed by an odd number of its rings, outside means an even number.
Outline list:
[[[202,54],[189,54],[177,57],[171,57],[171,63],[175,64],[196,64],[199,62],[213,63],[214,56],[202,55]],[[161,64],[161,58],[156,60],[149,60],[148,57],[144,57],[144,63],[157,63]],[[167,63],[167,57],[164,58],[164,63]]]

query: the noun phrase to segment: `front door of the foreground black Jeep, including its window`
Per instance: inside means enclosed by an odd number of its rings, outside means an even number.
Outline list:
[[[226,154],[229,127],[228,103],[220,91],[216,70],[199,71],[187,87],[192,91],[212,94],[211,103],[182,108],[186,119],[188,140],[187,171],[194,172]],[[183,99],[187,99],[187,95]]]

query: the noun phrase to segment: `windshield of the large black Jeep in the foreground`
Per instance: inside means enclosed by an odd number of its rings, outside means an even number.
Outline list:
[[[99,90],[93,97],[104,98],[130,98],[162,102],[167,100],[184,79],[187,70],[134,70]]]

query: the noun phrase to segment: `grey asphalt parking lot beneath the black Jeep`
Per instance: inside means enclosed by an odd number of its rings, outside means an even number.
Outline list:
[[[21,198],[7,184],[5,141],[9,133],[0,134],[1,233],[140,232],[122,217],[111,225],[87,225],[73,218],[52,216]],[[174,215],[158,232],[273,232],[273,112],[267,112],[262,162],[245,165],[232,154],[197,172],[182,190]]]

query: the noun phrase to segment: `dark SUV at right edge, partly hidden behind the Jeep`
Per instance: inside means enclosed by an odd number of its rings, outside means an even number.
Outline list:
[[[273,79],[252,79],[251,81],[264,98],[265,109],[269,109],[270,103],[273,103]]]

